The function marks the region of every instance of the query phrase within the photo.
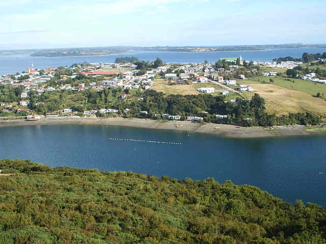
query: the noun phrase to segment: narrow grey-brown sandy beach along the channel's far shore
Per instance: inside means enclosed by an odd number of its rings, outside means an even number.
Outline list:
[[[176,123],[182,127],[176,127]],[[216,135],[228,138],[263,138],[286,136],[326,135],[326,128],[306,126],[278,126],[263,127],[237,127],[231,125],[218,125],[211,123],[192,123],[189,121],[153,120],[140,118],[84,118],[84,117],[58,117],[42,118],[40,121],[25,121],[24,119],[0,120],[1,127],[12,126],[38,126],[38,125],[91,125],[91,126],[126,126],[155,130],[173,130]]]

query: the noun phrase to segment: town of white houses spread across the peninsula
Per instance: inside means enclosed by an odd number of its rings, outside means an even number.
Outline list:
[[[121,61],[121,59],[120,59]],[[124,62],[123,62],[124,61]],[[96,109],[85,109],[83,104],[70,103],[68,107],[48,106],[44,108],[45,97],[51,97],[51,94],[68,94],[70,97],[78,96],[89,90],[100,92],[104,89],[119,90],[117,101],[122,102],[130,96],[135,96],[135,101],[144,100],[141,96],[145,90],[154,89],[157,92],[164,87],[166,90],[178,89],[177,87],[188,87],[192,90],[186,91],[185,94],[211,94],[213,96],[221,96],[226,102],[235,103],[236,99],[245,99],[251,101],[251,97],[255,92],[252,80],[259,80],[259,77],[268,77],[269,83],[274,82],[275,77],[300,78],[302,80],[326,83],[324,71],[319,69],[318,74],[313,69],[305,68],[307,72],[301,72],[304,65],[301,61],[285,61],[285,62],[253,62],[243,60],[240,57],[221,58],[216,63],[189,63],[189,64],[165,64],[157,58],[155,62],[149,64],[141,62],[135,58],[135,62],[128,62],[130,58],[126,58],[122,62],[116,63],[83,63],[73,64],[72,66],[47,68],[44,70],[28,67],[26,72],[21,74],[6,74],[0,77],[0,85],[3,87],[11,86],[17,88],[15,93],[19,91],[17,99],[14,101],[6,101],[4,96],[0,96],[0,105],[3,116],[26,116],[28,120],[39,120],[41,116],[59,117],[59,116],[107,116],[108,114],[131,114],[132,111],[128,107],[120,107],[117,103],[110,105],[110,102],[104,107]],[[318,58],[317,64],[324,65],[325,59]],[[291,71],[291,72],[289,72]],[[294,75],[293,75],[294,73]],[[302,73],[302,74],[300,74]],[[247,83],[248,82],[248,83]],[[263,81],[264,83],[265,81]],[[178,94],[178,93],[176,93]],[[85,98],[79,96],[79,101]],[[33,99],[31,99],[33,97]],[[17,101],[16,101],[17,100]],[[31,106],[33,100],[33,106]],[[76,102],[76,101],[75,101]],[[83,102],[82,102],[83,103]],[[85,103],[85,102],[84,102]],[[43,106],[43,109],[36,109]],[[64,105],[62,105],[64,106]],[[83,107],[78,108],[78,106]],[[40,113],[41,112],[41,113]],[[203,111],[205,112],[205,111]],[[34,113],[38,113],[35,116]],[[105,115],[107,114],[107,115]],[[138,115],[148,117],[150,111],[140,110]],[[203,117],[197,114],[187,114],[180,116],[179,114],[161,114],[162,119],[172,120],[191,120],[202,121]],[[158,114],[155,113],[157,117]],[[225,120],[230,115],[215,114],[216,119]],[[252,120],[252,118],[244,118]]]

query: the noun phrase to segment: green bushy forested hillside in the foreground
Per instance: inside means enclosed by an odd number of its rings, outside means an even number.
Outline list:
[[[0,161],[0,243],[325,243],[326,211],[252,186]],[[12,174],[12,175],[4,175]]]

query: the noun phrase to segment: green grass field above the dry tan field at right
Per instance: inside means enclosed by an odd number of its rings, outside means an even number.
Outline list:
[[[257,82],[260,83],[261,81],[269,82],[270,77],[255,77],[250,80],[244,80],[243,82],[246,84],[249,84],[249,82]],[[308,80],[301,80],[301,79],[293,79],[293,78],[279,78],[274,77],[272,78],[274,80],[275,85],[291,89],[291,90],[297,90],[299,92],[308,93],[311,95],[316,95],[317,93],[324,94],[323,98],[326,98],[326,85],[315,83]],[[291,81],[289,81],[290,79]],[[247,82],[248,81],[248,82]],[[294,82],[293,82],[294,81]],[[252,83],[253,84],[253,83]]]

